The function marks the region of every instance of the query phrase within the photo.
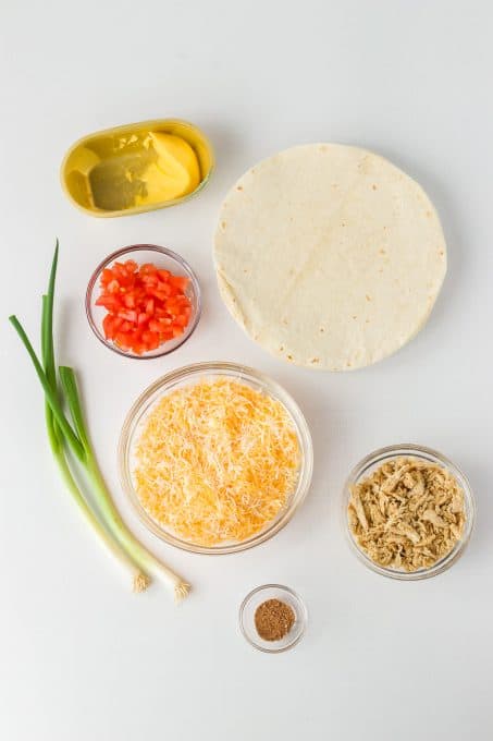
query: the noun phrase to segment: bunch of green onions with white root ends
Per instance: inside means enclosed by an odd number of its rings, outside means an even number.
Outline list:
[[[42,296],[42,364],[19,319],[15,316],[9,317],[30,356],[45,391],[45,416],[51,451],[69,491],[87,522],[93,526],[103,545],[131,572],[134,591],[144,592],[150,584],[149,574],[153,574],[161,576],[172,588],[176,600],[183,599],[189,592],[189,585],[161,563],[136,539],[120,517],[108,491],[90,445],[73,368],[60,366],[60,389],[58,388],[53,351],[53,299],[58,252],[57,240],[48,293]],[[69,408],[72,422],[64,412],[65,406]],[[84,489],[76,482],[74,472],[77,475],[83,475],[86,479],[85,483],[90,485],[91,499],[85,496]]]

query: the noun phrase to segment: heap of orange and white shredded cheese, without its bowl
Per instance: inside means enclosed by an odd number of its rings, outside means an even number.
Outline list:
[[[242,542],[287,505],[299,442],[284,405],[244,382],[205,379],[163,396],[135,447],[146,512],[202,546]]]

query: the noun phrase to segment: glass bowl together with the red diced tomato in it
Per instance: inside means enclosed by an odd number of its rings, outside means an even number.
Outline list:
[[[200,318],[200,289],[190,266],[155,244],[109,255],[94,271],[86,313],[96,337],[121,355],[167,355],[188,339]]]

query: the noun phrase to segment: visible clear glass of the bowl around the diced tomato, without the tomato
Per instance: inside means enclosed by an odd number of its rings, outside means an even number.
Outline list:
[[[160,344],[156,350],[150,350],[137,355],[132,352],[132,350],[125,351],[119,348],[111,340],[107,340],[102,329],[102,320],[107,315],[107,309],[103,306],[97,306],[96,301],[100,291],[100,277],[104,268],[110,267],[114,262],[121,260],[125,262],[127,259],[133,259],[137,265],[143,263],[152,263],[157,265],[158,268],[162,270],[170,270],[170,272],[177,276],[186,276],[189,281],[186,288],[186,295],[190,300],[192,314],[190,319],[185,327],[185,331],[180,337],[173,340],[168,340]],[[153,357],[161,357],[162,355],[168,355],[173,350],[176,350],[190,337],[195,330],[198,321],[200,319],[200,288],[198,284],[197,277],[188,263],[183,259],[180,255],[167,247],[160,247],[157,244],[133,244],[128,247],[123,247],[113,252],[111,255],[106,257],[102,263],[98,265],[96,270],[93,272],[86,291],[86,315],[89,321],[90,328],[98,338],[100,342],[113,352],[124,357],[135,357],[136,360],[151,360]]]

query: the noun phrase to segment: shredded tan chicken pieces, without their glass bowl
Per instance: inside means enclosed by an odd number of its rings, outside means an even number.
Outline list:
[[[444,467],[417,458],[387,461],[353,487],[350,531],[379,566],[426,569],[460,539],[464,491]]]

